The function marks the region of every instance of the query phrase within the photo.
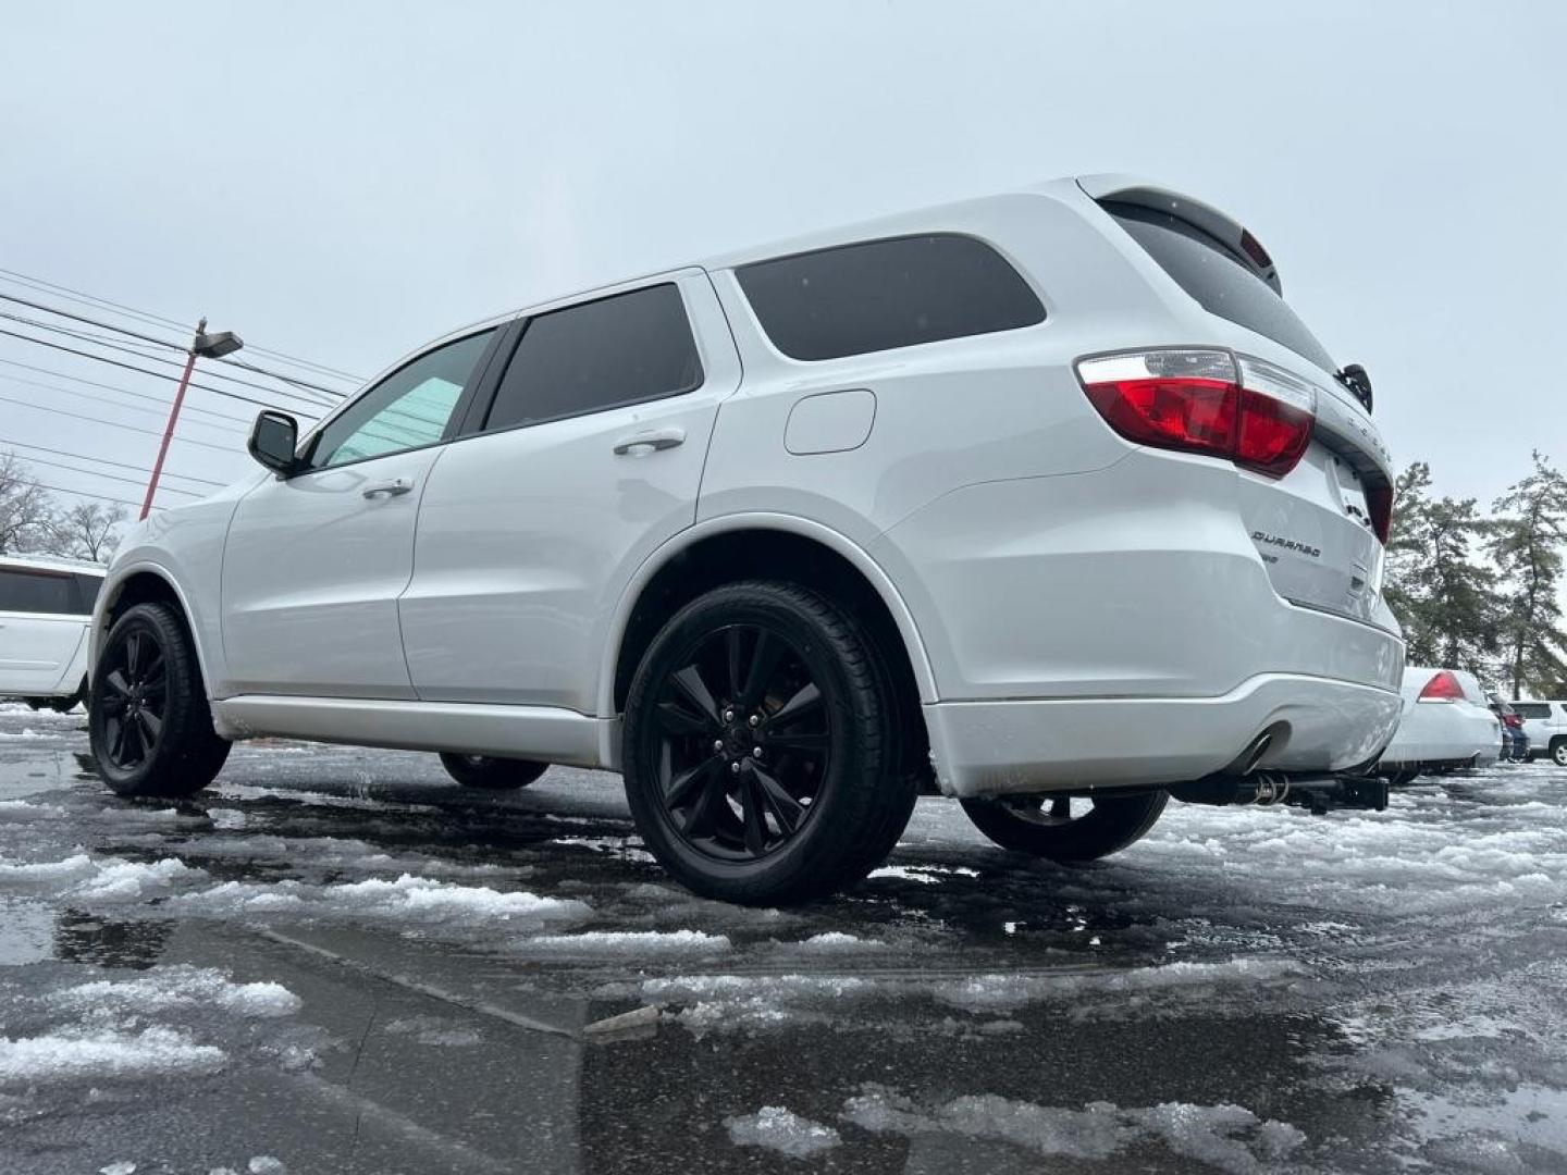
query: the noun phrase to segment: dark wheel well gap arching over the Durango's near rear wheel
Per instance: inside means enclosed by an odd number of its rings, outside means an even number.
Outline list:
[[[671,616],[713,588],[740,580],[784,580],[810,588],[843,606],[863,625],[892,675],[898,713],[904,716],[904,763],[929,776],[931,747],[920,710],[920,686],[898,622],[870,580],[831,547],[801,534],[746,530],[715,534],[680,551],[642,588],[614,671],[614,708],[625,707],[642,653]]]

